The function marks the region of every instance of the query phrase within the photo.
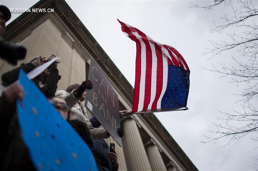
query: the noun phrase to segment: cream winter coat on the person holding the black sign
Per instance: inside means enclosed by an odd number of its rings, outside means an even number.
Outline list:
[[[104,128],[92,127],[91,122],[88,119],[86,109],[80,101],[81,97],[76,98],[73,92],[74,90],[70,94],[64,90],[59,90],[56,92],[56,97],[64,99],[68,106],[71,107],[70,120],[80,120],[84,122],[88,126],[93,139],[109,138],[110,135]]]

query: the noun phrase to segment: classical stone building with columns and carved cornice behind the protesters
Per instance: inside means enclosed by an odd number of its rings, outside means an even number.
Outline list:
[[[131,110],[133,87],[67,3],[41,0],[32,8],[53,8],[54,13],[24,13],[6,27],[4,40],[27,48],[26,59],[19,61],[18,66],[39,55],[47,58],[56,54],[62,59],[58,65],[62,76],[58,90],[65,90],[87,79],[93,57],[116,90],[120,110]],[[0,60],[0,74],[13,68]],[[198,170],[154,114],[122,117],[120,122],[124,136],[122,147],[116,144],[119,170]],[[106,141],[116,143],[112,138]]]

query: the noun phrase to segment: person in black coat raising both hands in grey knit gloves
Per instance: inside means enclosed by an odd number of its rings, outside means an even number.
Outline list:
[[[22,64],[20,67],[15,68],[11,71],[4,73],[1,76],[2,85],[8,86],[11,83],[18,80],[19,71],[23,69],[27,74],[33,69],[39,67],[43,63],[50,61],[57,56],[52,54],[47,60],[44,60],[41,56],[32,59],[29,63]],[[34,83],[38,86],[38,88],[43,92],[43,94],[47,97],[54,97],[57,89],[57,83],[60,78],[58,75],[59,71],[57,69],[57,64],[61,62],[61,59],[58,59],[48,67],[45,71],[43,71],[40,75],[33,79]]]

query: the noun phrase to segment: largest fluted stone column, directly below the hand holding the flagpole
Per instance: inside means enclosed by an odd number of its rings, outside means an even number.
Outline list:
[[[122,127],[124,129],[125,138],[125,144],[123,144],[123,146],[125,146],[123,148],[126,150],[129,160],[128,165],[130,165],[128,170],[151,170],[135,120],[128,116],[128,118],[122,122]]]

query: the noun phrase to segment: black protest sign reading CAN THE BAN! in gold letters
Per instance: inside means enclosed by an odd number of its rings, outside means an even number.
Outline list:
[[[85,106],[121,146],[118,95],[92,57],[88,79],[93,88],[87,90]]]

